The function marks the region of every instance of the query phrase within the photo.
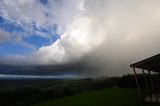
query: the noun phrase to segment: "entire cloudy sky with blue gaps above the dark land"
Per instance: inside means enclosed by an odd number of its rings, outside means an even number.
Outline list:
[[[0,74],[121,76],[160,53],[159,0],[0,0]]]

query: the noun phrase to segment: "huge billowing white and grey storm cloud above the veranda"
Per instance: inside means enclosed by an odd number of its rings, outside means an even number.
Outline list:
[[[64,28],[60,39],[31,54],[2,57],[0,63],[120,76],[131,71],[131,63],[160,52],[159,0],[81,0],[75,4],[77,8],[69,7],[77,11],[69,11],[72,15],[65,22],[65,16],[58,15],[57,24]],[[65,8],[62,14],[68,12]]]

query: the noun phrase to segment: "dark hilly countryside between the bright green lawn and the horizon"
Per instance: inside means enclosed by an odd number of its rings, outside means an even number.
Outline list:
[[[82,92],[117,86],[118,79],[0,80],[0,106],[31,106]]]

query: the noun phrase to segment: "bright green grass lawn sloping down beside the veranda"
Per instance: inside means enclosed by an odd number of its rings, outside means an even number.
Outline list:
[[[159,104],[140,101],[136,90],[113,88],[81,93],[33,106],[159,106]]]

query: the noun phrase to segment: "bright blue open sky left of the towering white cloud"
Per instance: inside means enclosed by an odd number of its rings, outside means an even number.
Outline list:
[[[47,2],[47,1],[43,1]],[[60,38],[59,35],[56,34],[57,25],[53,25],[52,27],[41,27],[36,26],[36,22],[33,22],[31,29],[33,30],[31,33],[25,29],[28,27],[26,24],[19,25],[16,22],[10,22],[9,20],[4,19],[0,16],[0,29],[10,33],[10,36],[16,37],[20,35],[22,38],[21,42],[25,42],[26,44],[34,45],[36,48],[40,48],[42,46],[50,45],[54,43],[57,39]],[[12,39],[11,39],[12,40]],[[15,55],[15,54],[25,54],[33,51],[33,48],[28,48],[21,43],[13,43],[12,41],[4,42],[0,44],[0,55]]]

